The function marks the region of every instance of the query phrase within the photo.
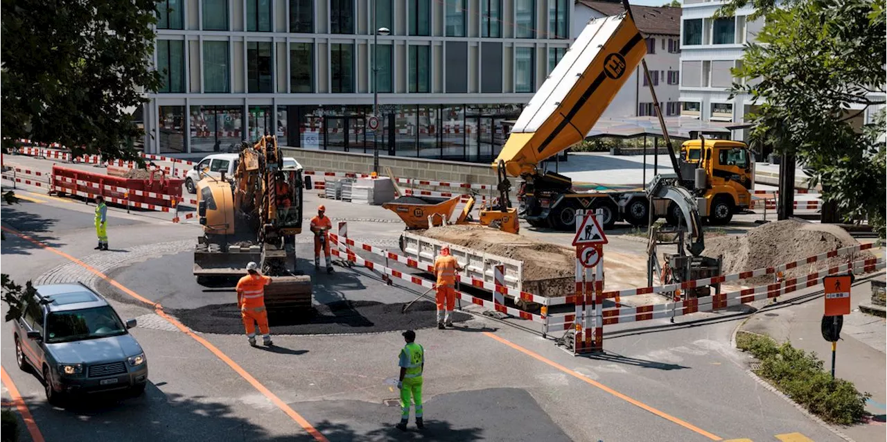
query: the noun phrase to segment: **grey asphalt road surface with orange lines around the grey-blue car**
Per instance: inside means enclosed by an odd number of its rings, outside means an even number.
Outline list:
[[[131,297],[191,302],[170,288],[192,283],[191,266],[177,248],[193,241],[196,226],[112,210],[109,236],[119,251],[98,253],[91,219],[82,217],[91,208],[42,199],[7,209],[14,213],[0,219],[6,228],[7,217],[30,223],[30,233],[53,248],[7,232],[0,260],[15,280],[82,280],[99,287],[100,274],[109,274]],[[396,229],[383,224],[373,238],[367,225],[360,233],[383,242],[392,241]],[[127,280],[132,273],[125,268],[155,268],[155,278]],[[398,289],[356,272],[341,269],[330,278],[380,284],[381,296],[403,302],[391,295]],[[347,286],[349,298],[372,297],[355,282]],[[760,441],[795,432],[841,440],[746,374],[746,356],[730,343],[743,318],[737,312],[698,313],[677,325],[614,326],[607,330],[607,352],[589,358],[569,356],[523,328],[525,322],[515,328],[475,316],[454,330],[422,329],[417,341],[428,354],[428,432],[420,435],[391,430],[399,411],[385,405],[397,396],[385,383],[397,374],[403,346],[397,332],[280,335],[276,348],[255,349],[242,335],[178,328],[148,304],[112,304],[123,318],[139,321],[132,333],[147,353],[151,383],[140,399],[48,406],[40,381],[15,367],[12,328],[2,326],[7,338],[0,339],[0,365],[46,440],[311,440],[310,430],[329,440]],[[4,386],[9,399],[10,385]]]

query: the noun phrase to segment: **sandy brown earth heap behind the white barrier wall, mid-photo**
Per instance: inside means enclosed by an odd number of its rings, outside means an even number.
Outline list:
[[[417,231],[448,242],[523,262],[522,289],[539,296],[564,296],[575,289],[576,252],[483,225],[443,225]]]

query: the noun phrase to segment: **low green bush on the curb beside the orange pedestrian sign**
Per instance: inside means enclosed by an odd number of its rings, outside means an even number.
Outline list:
[[[777,345],[773,338],[741,332],[736,346],[760,359],[757,375],[805,406],[823,421],[850,425],[862,421],[868,393],[860,393],[853,383],[832,379],[816,353],[796,349],[791,343]]]

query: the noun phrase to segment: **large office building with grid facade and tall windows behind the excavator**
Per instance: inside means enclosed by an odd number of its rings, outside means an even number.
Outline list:
[[[571,0],[165,0],[149,153],[277,133],[315,149],[487,162],[572,42]],[[389,28],[390,36],[375,29]],[[374,51],[375,49],[375,51]],[[380,129],[373,113],[378,60]],[[374,136],[378,136],[374,138]]]

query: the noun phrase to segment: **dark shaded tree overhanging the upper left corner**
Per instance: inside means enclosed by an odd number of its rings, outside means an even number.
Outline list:
[[[131,140],[144,136],[128,108],[156,91],[155,0],[0,0],[0,152],[17,138],[61,143],[72,154],[141,161]],[[0,204],[15,196],[0,188]],[[4,240],[0,231],[0,241]],[[6,320],[32,291],[0,272]]]

